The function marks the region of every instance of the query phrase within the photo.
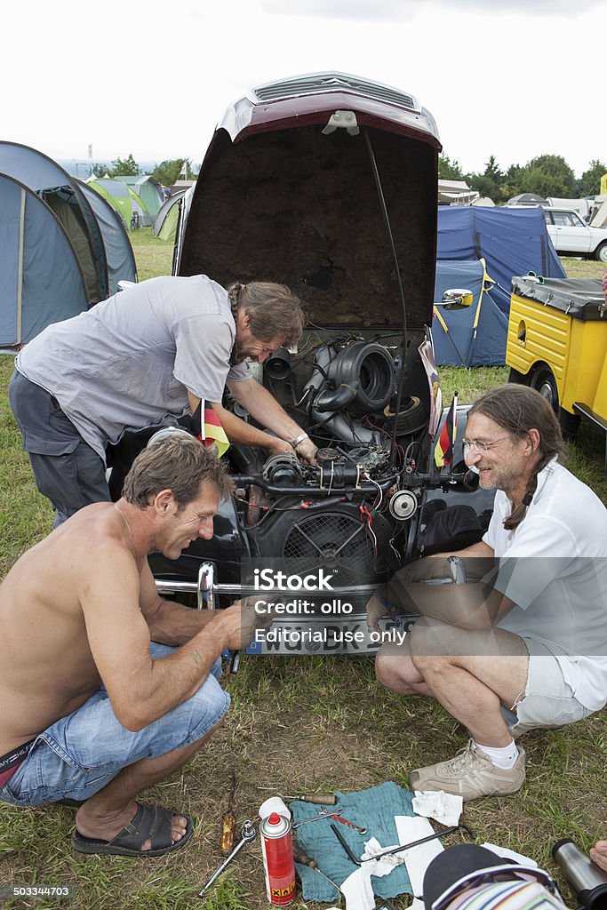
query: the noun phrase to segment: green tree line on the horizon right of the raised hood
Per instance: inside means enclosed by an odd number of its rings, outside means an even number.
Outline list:
[[[564,199],[597,196],[603,174],[607,174],[607,165],[597,158],[578,178],[561,155],[540,155],[531,158],[524,167],[511,165],[507,170],[501,170],[495,156],[491,155],[484,171],[478,174],[465,174],[458,161],[447,155],[439,156],[440,179],[465,180],[471,189],[490,197],[496,205],[508,202],[520,193]]]

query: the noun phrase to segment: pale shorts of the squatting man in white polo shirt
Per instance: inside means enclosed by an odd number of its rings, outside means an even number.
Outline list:
[[[538,727],[562,727],[592,714],[575,698],[572,687],[562,675],[561,664],[546,645],[534,639],[524,639],[524,642],[529,651],[525,691],[511,711],[502,709],[512,733],[520,736]]]

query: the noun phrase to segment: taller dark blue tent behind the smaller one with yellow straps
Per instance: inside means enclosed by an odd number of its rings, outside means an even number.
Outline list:
[[[540,207],[440,206],[437,258],[483,258],[496,282],[492,298],[506,314],[513,275],[566,278]]]

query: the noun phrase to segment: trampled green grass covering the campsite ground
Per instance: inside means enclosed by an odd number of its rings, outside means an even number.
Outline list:
[[[133,240],[140,279],[170,271],[169,244],[145,229]],[[599,263],[566,260],[565,268],[572,276],[602,274]],[[8,409],[11,369],[10,358],[0,359],[0,575],[51,529],[51,513],[35,490]],[[441,370],[446,399],[457,388],[462,401],[506,377],[506,369]],[[568,446],[568,457],[572,470],[607,502],[603,447],[602,437],[584,428],[580,443]],[[258,841],[239,854],[210,895],[196,897],[221,861],[219,819],[232,770],[238,778],[239,830],[270,794],[357,791],[389,780],[406,785],[410,769],[450,757],[466,742],[460,725],[440,706],[399,698],[380,687],[369,658],[249,658],[238,675],[226,677],[226,686],[232,707],[215,738],[181,773],[146,794],[148,802],[193,815],[196,833],[187,848],[147,862],[85,857],[74,854],[69,843],[73,810],[0,804],[0,886],[72,889],[66,901],[24,898],[6,906],[258,910],[268,906]],[[528,733],[522,744],[527,784],[521,793],[474,801],[465,807],[463,820],[481,841],[510,846],[556,873],[550,853],[556,840],[570,836],[587,849],[607,835],[607,712],[559,732]],[[566,888],[564,893],[569,895]],[[409,903],[402,897],[394,906],[400,910]],[[569,903],[575,906],[571,895]],[[294,907],[317,910],[319,905],[298,898]]]

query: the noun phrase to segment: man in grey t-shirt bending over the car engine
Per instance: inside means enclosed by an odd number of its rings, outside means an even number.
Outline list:
[[[151,278],[48,326],[15,360],[9,399],[36,486],[56,524],[108,501],[106,446],[210,402],[228,439],[314,460],[316,447],[249,373],[299,338],[298,298],[283,285],[204,275]],[[270,435],[221,406],[224,388]]]

